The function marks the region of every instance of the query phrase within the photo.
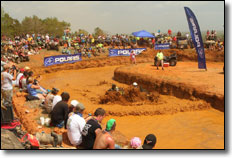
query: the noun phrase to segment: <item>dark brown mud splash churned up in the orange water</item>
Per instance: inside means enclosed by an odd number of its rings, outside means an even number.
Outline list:
[[[122,91],[107,91],[104,96],[100,97],[100,104],[121,104],[121,105],[140,105],[140,102],[144,103],[157,103],[159,94],[153,92],[148,94],[141,92],[139,88],[128,87]]]

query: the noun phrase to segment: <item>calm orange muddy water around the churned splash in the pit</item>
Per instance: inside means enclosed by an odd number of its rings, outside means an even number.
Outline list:
[[[60,92],[67,91],[71,99],[84,103],[86,113],[93,113],[97,107],[106,111],[117,111],[118,114],[106,116],[103,123],[110,118],[117,121],[117,130],[128,139],[134,136],[142,140],[149,133],[157,136],[157,149],[222,149],[224,148],[224,113],[210,109],[198,111],[175,112],[163,115],[130,115],[132,111],[154,110],[154,105],[122,106],[101,105],[99,97],[116,83],[119,87],[125,84],[113,80],[114,70],[118,66],[89,68],[82,70],[60,70],[43,75],[41,85],[46,88],[57,87]],[[184,99],[161,96],[166,106],[195,104]],[[197,102],[198,103],[198,102]],[[122,112],[122,113],[120,113]]]

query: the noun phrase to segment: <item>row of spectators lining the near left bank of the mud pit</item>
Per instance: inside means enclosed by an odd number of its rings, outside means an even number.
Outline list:
[[[28,67],[19,68],[15,63],[5,62],[1,73],[2,107],[12,107],[13,88],[18,87],[28,93],[27,101],[40,100],[41,107],[50,117],[49,126],[67,129],[70,143],[77,149],[152,149],[156,144],[156,136],[149,134],[143,144],[138,137],[132,138],[130,146],[123,147],[115,143],[112,133],[116,129],[116,120],[110,119],[106,127],[101,122],[106,111],[97,108],[93,116],[84,117],[85,106],[77,100],[68,105],[70,94],[59,89],[46,89],[41,86],[41,76],[35,76]],[[42,124],[43,125],[43,124]]]

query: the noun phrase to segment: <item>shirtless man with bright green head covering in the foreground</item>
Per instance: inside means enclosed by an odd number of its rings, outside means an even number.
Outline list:
[[[115,142],[112,132],[115,131],[115,119],[110,119],[106,123],[106,129],[97,134],[93,149],[115,149]]]

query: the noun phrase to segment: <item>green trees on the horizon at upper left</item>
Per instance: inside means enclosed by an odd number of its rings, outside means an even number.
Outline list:
[[[65,21],[59,21],[56,17],[48,17],[46,19],[40,19],[36,15],[32,17],[26,16],[19,22],[17,19],[10,17],[1,7],[1,35],[6,35],[8,37],[14,37],[15,35],[22,34],[46,34],[61,37],[64,34],[66,28],[70,28],[71,24]],[[72,35],[89,35],[89,33],[84,29],[79,29],[72,33]],[[106,35],[106,32],[96,27],[94,29],[93,36],[98,37]]]

